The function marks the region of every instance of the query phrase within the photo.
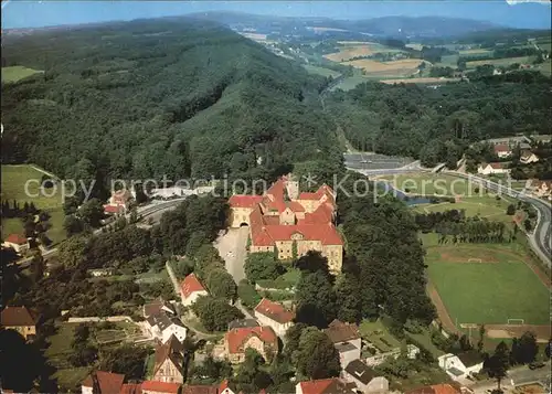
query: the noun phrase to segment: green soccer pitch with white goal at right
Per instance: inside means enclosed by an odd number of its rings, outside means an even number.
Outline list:
[[[423,238],[427,238],[424,236]],[[426,244],[427,245],[427,244]],[[517,245],[517,246],[516,246]],[[522,245],[444,245],[427,249],[426,264],[448,313],[458,323],[549,322],[550,294],[522,262],[527,255],[512,253]],[[481,263],[468,263],[479,258]]]

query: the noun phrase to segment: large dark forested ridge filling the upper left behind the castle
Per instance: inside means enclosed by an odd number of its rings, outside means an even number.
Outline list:
[[[4,163],[102,179],[270,178],[341,156],[317,98],[327,81],[211,22],[33,34],[4,44],[12,65],[44,73],[2,86]]]

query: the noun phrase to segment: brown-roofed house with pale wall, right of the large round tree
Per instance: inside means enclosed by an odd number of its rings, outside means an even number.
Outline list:
[[[351,361],[360,359],[362,340],[357,324],[344,323],[336,319],[323,332],[339,353],[341,369],[344,369]]]

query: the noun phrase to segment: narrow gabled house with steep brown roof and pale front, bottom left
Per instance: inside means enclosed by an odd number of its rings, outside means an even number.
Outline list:
[[[183,383],[184,347],[171,336],[167,343],[156,348],[156,363],[153,365],[153,381]]]

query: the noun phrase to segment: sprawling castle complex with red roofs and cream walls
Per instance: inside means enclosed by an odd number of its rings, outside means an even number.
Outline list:
[[[322,184],[315,193],[299,193],[288,177],[276,181],[264,195],[232,195],[232,227],[250,226],[250,252],[276,251],[279,259],[318,251],[328,258],[330,271],[341,271],[343,242],[337,232],[336,196]]]

